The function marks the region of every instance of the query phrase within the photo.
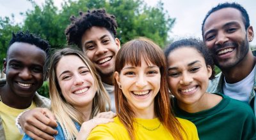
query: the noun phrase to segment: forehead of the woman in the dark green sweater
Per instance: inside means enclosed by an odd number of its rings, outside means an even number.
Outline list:
[[[172,64],[187,65],[188,63],[193,62],[195,60],[205,62],[202,54],[199,53],[198,50],[196,50],[196,48],[192,48],[189,46],[176,48],[175,50],[169,53],[167,59],[169,66]]]

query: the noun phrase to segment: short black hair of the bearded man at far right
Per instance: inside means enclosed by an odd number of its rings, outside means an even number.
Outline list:
[[[215,6],[214,8],[212,8],[210,11],[208,11],[208,13],[205,15],[205,18],[204,18],[203,23],[202,23],[202,36],[203,36],[203,38],[204,38],[205,20],[207,20],[209,15],[211,15],[211,13],[213,13],[214,11],[221,10],[223,8],[235,8],[236,10],[239,10],[241,12],[242,17],[243,17],[243,22],[244,22],[245,29],[247,29],[250,26],[249,15],[248,15],[247,11],[243,8],[243,6],[241,6],[238,3],[220,3],[217,6]]]

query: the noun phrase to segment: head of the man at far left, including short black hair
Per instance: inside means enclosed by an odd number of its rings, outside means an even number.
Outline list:
[[[12,33],[3,61],[6,84],[20,97],[33,97],[44,82],[44,65],[50,45],[27,32]]]

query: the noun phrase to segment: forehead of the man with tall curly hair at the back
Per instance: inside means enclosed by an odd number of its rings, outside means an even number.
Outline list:
[[[100,39],[105,35],[111,37],[111,32],[109,32],[105,27],[93,26],[84,32],[82,36],[82,43],[85,41],[94,41],[96,39]]]

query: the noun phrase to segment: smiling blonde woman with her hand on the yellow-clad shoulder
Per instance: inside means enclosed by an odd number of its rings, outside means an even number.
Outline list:
[[[110,107],[109,97],[92,63],[79,50],[64,48],[52,55],[49,94],[58,122],[55,139],[86,139],[96,125],[113,121],[113,114],[109,118],[101,117],[108,113],[99,114]]]

